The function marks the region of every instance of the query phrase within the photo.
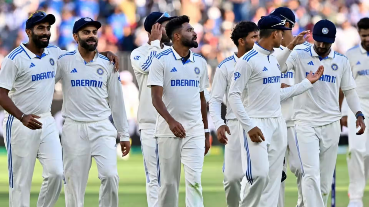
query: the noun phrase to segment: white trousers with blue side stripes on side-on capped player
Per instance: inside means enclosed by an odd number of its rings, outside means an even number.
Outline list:
[[[276,207],[278,204],[283,158],[287,147],[287,127],[283,117],[256,119],[265,141],[254,143],[244,131],[242,167],[248,183],[239,207]]]

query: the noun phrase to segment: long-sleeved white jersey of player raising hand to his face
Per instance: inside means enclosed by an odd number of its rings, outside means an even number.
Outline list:
[[[138,82],[138,112],[137,121],[139,129],[155,129],[156,116],[158,112],[152,105],[151,88],[146,86],[149,77],[152,59],[160,52],[169,49],[170,47],[164,45],[163,49],[160,47],[160,41],[155,40],[150,43],[145,43],[139,48],[136,48],[131,53],[131,63],[135,76]]]

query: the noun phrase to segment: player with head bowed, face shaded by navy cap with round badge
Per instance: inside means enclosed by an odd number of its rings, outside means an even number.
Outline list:
[[[282,73],[294,70],[295,83],[300,83],[312,67],[325,68],[316,87],[293,99],[292,120],[296,124],[296,144],[302,161],[301,186],[306,207],[327,206],[341,133],[340,87],[349,108],[356,114],[356,127],[361,127],[358,134],[365,130],[349,61],[331,49],[335,35],[336,27],[331,21],[318,21],[313,29],[313,46],[294,52],[284,49],[278,56]]]

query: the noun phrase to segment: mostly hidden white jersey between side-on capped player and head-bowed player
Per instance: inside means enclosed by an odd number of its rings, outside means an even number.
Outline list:
[[[311,46],[313,46],[311,43],[305,41],[301,45],[296,45],[296,47],[293,50],[310,48]],[[273,56],[279,55],[284,48],[286,47],[282,45],[279,48],[274,48]],[[287,71],[286,73],[280,73],[280,83],[294,85],[295,84],[294,72]],[[286,120],[287,127],[293,127],[294,123],[291,120],[293,116],[293,98],[291,97],[289,99],[282,101],[280,103],[280,106],[282,109],[283,118],[284,120]]]

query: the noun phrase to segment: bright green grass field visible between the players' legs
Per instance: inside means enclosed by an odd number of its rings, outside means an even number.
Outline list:
[[[145,207],[145,173],[140,154],[131,154],[127,161],[118,161],[118,172],[120,176],[119,203],[120,206]],[[206,207],[225,207],[225,195],[223,190],[222,173],[223,155],[209,155],[205,158],[204,170],[202,174],[204,206]],[[7,157],[0,155],[0,206],[8,206],[8,170]],[[336,206],[346,207],[348,204],[347,187],[348,173],[345,155],[338,155],[337,160],[337,180],[336,180]],[[42,168],[39,162],[36,167],[32,180],[31,207],[36,206],[38,192],[42,182]],[[183,175],[183,172],[182,172]],[[98,206],[100,180],[97,178],[96,164],[93,162],[89,175],[85,195],[85,206]],[[184,207],[185,201],[184,177],[180,182],[179,206]],[[364,206],[369,206],[369,187],[366,187],[364,195]],[[297,200],[297,188],[294,176],[289,172],[286,180],[286,207],[293,207]],[[56,204],[57,207],[64,207],[64,193]],[[330,202],[329,205],[330,206]]]

